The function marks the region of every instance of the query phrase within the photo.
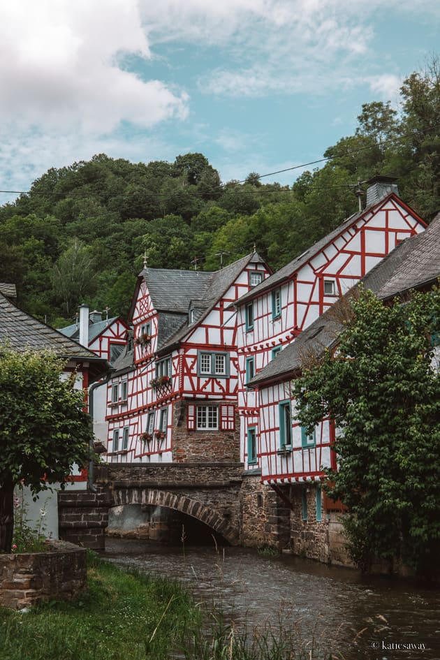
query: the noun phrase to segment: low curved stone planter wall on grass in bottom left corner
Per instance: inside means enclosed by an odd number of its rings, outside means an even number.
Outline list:
[[[22,610],[41,601],[71,600],[86,587],[87,552],[52,541],[47,552],[0,555],[0,606]]]

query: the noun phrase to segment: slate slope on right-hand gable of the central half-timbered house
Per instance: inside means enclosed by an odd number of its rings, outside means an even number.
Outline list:
[[[228,291],[228,288],[234,283],[242,270],[249,263],[263,263],[263,259],[258,255],[258,253],[253,252],[247,256],[242,257],[238,261],[234,261],[234,263],[231,263],[221,270],[209,273],[210,280],[205,289],[205,295],[203,295],[201,298],[198,298],[197,300],[198,309],[203,311],[200,315],[197,316],[196,321],[191,325],[188,322],[189,318],[187,312],[189,310],[189,295],[187,293],[186,316],[184,318],[184,323],[182,323],[182,327],[179,328],[175,334],[169,337],[168,341],[166,341],[163,346],[158,347],[159,351],[162,353],[169,351],[173,346],[175,346],[175,344],[181,342],[182,339],[184,339],[184,337],[188,334],[188,332],[193,330],[193,328],[195,328],[198,323],[203,321],[203,319],[210,313],[214,305],[216,305],[217,301],[220,300],[226,291]]]

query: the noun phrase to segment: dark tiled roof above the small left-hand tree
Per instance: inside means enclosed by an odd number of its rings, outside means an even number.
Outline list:
[[[50,328],[42,321],[22,311],[0,293],[0,340],[8,342],[15,351],[51,350],[61,358],[75,362],[90,362],[92,379],[104,374],[110,367],[84,346]]]

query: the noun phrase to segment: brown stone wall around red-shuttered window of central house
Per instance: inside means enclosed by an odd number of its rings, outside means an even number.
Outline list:
[[[187,462],[239,462],[240,461],[240,418],[235,413],[233,431],[188,430],[186,408],[194,401],[179,401],[173,411],[173,461]]]

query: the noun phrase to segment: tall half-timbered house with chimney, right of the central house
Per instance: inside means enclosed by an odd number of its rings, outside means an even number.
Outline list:
[[[260,423],[258,393],[247,383],[399,242],[425,223],[397,196],[393,179],[369,182],[367,208],[237,301],[242,460]],[[386,196],[383,194],[386,193]],[[381,197],[382,196],[382,197]]]

